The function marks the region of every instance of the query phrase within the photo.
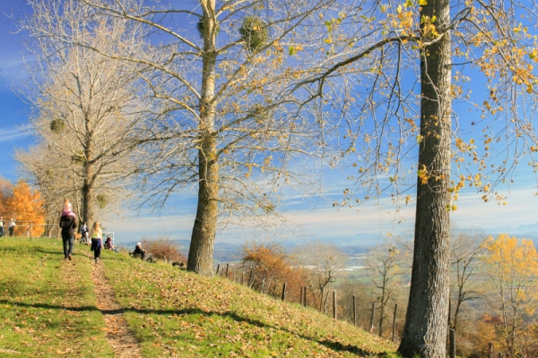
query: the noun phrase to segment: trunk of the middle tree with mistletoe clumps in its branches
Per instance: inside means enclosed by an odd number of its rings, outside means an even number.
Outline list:
[[[213,245],[217,227],[219,166],[214,131],[215,38],[217,23],[215,0],[204,2],[204,60],[202,98],[200,100],[200,149],[198,149],[198,206],[188,251],[187,269],[213,276]]]

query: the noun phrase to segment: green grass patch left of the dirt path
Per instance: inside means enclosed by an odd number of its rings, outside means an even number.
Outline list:
[[[77,259],[57,240],[0,240],[0,356],[113,356],[90,261]]]

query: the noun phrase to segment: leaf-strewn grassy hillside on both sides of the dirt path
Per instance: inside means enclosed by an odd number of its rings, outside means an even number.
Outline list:
[[[0,239],[0,356],[113,357],[87,246]],[[221,277],[103,252],[104,277],[143,357],[395,357],[395,345]]]

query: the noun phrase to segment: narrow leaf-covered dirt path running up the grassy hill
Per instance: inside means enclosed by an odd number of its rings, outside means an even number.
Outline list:
[[[134,333],[129,330],[123,317],[123,309],[117,303],[112,287],[104,276],[104,264],[91,265],[91,279],[95,285],[97,307],[107,322],[108,344],[120,358],[142,358],[142,350]]]

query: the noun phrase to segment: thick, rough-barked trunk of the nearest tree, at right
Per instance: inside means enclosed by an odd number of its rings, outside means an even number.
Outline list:
[[[421,19],[436,16],[438,33],[450,23],[448,0],[428,1]],[[427,34],[426,34],[427,36]],[[425,38],[425,41],[428,41]],[[404,357],[445,358],[448,314],[451,43],[447,33],[421,52],[421,145],[411,291]],[[427,179],[423,175],[428,175]],[[426,181],[427,180],[427,181]]]

